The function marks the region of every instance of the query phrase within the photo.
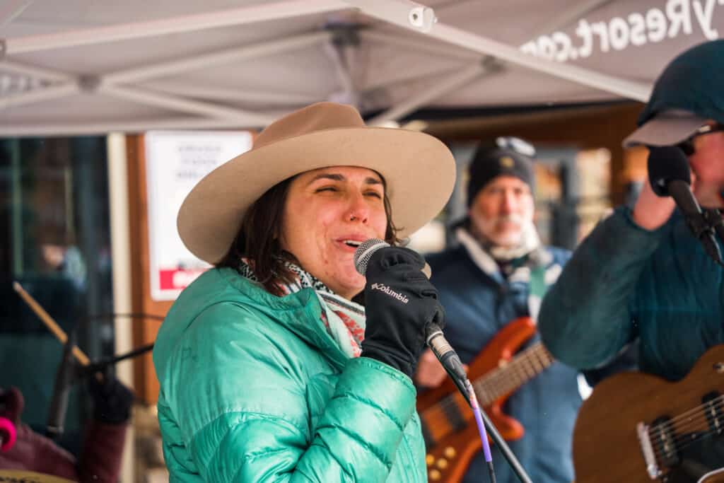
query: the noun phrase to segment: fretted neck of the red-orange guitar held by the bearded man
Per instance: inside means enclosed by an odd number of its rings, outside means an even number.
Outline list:
[[[481,406],[489,406],[536,377],[553,363],[553,356],[537,342],[510,359],[501,360],[497,369],[475,379],[473,387]]]

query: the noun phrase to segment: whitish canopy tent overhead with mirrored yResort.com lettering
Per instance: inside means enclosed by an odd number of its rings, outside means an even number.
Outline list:
[[[724,0],[0,0],[0,136],[645,101],[720,31]]]

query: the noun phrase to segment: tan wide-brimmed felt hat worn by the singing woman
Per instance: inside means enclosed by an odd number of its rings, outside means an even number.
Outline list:
[[[321,102],[271,123],[251,151],[199,181],[179,210],[181,240],[195,256],[215,264],[229,250],[246,210],[266,190],[288,177],[328,166],[379,172],[400,237],[437,215],[455,183],[455,160],[437,138],[367,127],[352,106]]]

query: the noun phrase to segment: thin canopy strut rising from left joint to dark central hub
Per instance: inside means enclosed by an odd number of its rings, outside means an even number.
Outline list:
[[[251,45],[240,46],[234,49],[224,49],[209,54],[195,55],[190,58],[171,62],[156,62],[148,66],[136,67],[104,75],[104,83],[136,83],[153,77],[174,75],[189,70],[201,70],[211,65],[230,64],[240,60],[254,59],[256,57],[279,54],[285,51],[303,49],[326,41],[329,36],[330,33],[326,31],[306,33],[275,41],[252,43]]]

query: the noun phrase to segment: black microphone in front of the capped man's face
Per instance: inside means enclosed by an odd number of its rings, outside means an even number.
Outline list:
[[[689,160],[676,146],[649,146],[649,182],[658,196],[671,196],[683,213],[689,230],[717,264],[724,264],[714,230],[702,214],[702,207],[691,193]]]

